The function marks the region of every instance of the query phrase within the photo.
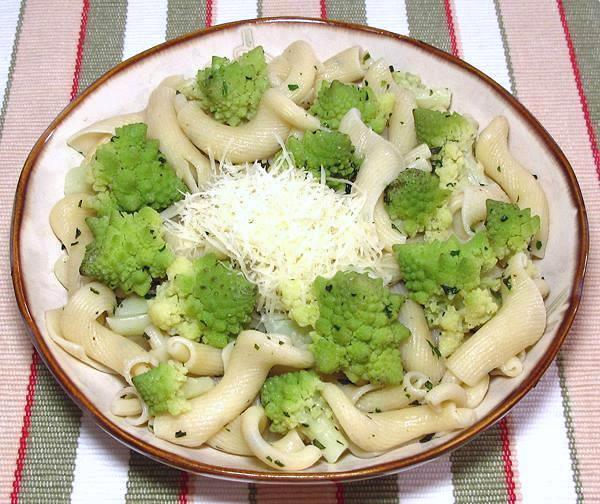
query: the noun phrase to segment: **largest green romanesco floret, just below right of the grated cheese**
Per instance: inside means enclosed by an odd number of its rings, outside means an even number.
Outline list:
[[[404,298],[381,279],[352,271],[317,277],[313,290],[319,305],[311,345],[317,370],[343,371],[352,382],[400,383],[400,342],[409,335],[397,320]]]

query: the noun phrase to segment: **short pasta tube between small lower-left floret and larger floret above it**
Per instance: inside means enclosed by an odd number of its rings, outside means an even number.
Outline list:
[[[222,351],[218,348],[182,336],[172,336],[167,341],[167,350],[171,358],[181,362],[191,374],[198,376],[223,374]]]

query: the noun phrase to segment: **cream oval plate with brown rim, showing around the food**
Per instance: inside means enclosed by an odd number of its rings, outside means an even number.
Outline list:
[[[202,447],[189,449],[156,439],[110,413],[120,380],[67,355],[52,340],[44,312],[62,306],[66,292],[52,267],[60,246],[48,223],[50,209],[63,196],[66,171],[80,162],[66,139],[99,119],[145,107],[151,90],[166,76],[194,75],[213,54],[230,55],[250,30],[256,45],[279,54],[304,39],[325,59],[352,45],[384,57],[396,69],[420,74],[432,86],[453,91],[453,107],[470,113],[483,127],[496,115],[510,123],[512,152],[538,176],[551,202],[551,232],[541,269],[552,288],[548,328],[527,354],[517,378],[496,377],[479,420],[460,432],[413,443],[372,459],[346,456],[334,466],[323,462],[298,473],[275,472],[256,459]],[[382,476],[427,462],[458,448],[505,415],[541,378],[556,356],[579,305],[588,253],[588,224],[575,174],[556,142],[508,91],[467,63],[401,35],[335,21],[265,18],[215,26],[171,40],[121,63],[98,79],[52,122],[33,147],[21,174],[11,231],[12,278],[19,309],[33,344],[58,382],[83,410],[113,437],[155,460],[186,471],[245,481],[319,482]]]

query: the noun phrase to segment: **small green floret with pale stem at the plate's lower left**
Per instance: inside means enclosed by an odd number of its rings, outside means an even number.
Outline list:
[[[179,362],[161,362],[150,371],[132,378],[151,415],[179,415],[190,410],[183,396],[187,369]]]

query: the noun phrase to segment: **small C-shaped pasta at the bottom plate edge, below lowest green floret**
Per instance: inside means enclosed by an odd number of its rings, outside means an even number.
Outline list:
[[[280,471],[301,471],[314,465],[321,458],[316,446],[303,446],[298,451],[288,452],[265,441],[260,432],[260,423],[265,417],[262,406],[252,406],[242,415],[242,433],[256,458]]]

